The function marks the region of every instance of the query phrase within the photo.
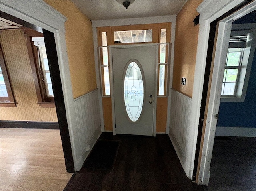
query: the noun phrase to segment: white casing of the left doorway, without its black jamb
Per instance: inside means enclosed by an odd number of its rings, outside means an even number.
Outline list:
[[[33,11],[32,11],[33,10]],[[75,171],[80,170],[83,163],[78,163],[80,153],[77,152],[78,142],[76,141],[76,113],[74,99],[72,93],[70,71],[68,65],[68,55],[66,51],[65,26],[67,20],[65,16],[60,14],[50,5],[42,0],[34,1],[1,1],[1,11],[20,18],[26,22],[34,24],[54,33],[56,49],[58,55],[58,63],[60,68],[60,77],[62,83],[62,91],[64,96],[66,116],[68,122],[68,131],[72,147]]]

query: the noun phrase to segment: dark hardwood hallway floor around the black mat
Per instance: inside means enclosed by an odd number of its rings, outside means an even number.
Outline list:
[[[168,135],[102,133],[99,139],[120,140],[114,169],[82,168],[64,191],[204,191],[186,177]]]

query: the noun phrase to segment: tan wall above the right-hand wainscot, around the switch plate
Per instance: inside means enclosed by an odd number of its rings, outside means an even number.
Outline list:
[[[196,8],[201,2],[188,0],[176,20],[172,87],[190,97],[193,93],[199,31],[199,25],[194,26],[193,20],[199,14]],[[186,78],[186,85],[181,85],[182,77]]]

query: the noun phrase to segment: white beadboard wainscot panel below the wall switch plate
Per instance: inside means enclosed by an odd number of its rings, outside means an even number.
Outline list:
[[[185,168],[187,158],[187,132],[190,123],[192,99],[174,89],[172,89],[171,99],[169,136],[182,167]]]

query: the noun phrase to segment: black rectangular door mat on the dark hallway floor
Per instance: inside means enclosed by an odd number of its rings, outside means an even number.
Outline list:
[[[113,170],[119,140],[97,140],[84,163],[86,169]]]

